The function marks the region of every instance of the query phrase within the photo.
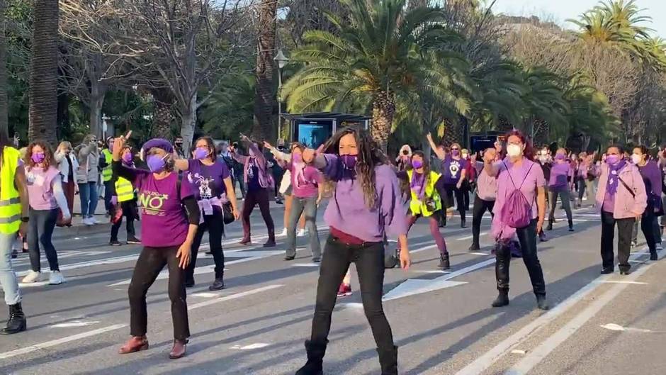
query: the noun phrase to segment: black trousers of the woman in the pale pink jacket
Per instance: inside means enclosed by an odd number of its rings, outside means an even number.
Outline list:
[[[615,239],[615,225],[617,224],[617,258],[618,268],[621,271],[631,269],[629,253],[631,252],[631,231],[635,218],[616,219],[613,213],[602,211],[602,267],[614,269],[613,240]]]

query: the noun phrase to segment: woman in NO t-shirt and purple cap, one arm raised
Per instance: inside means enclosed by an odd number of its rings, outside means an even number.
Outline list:
[[[169,141],[156,138],[143,145],[142,155],[147,155],[149,171],[125,167],[120,162],[125,142],[131,134],[130,131],[125,137],[115,138],[112,167],[116,177],[128,179],[139,192],[144,247],[128,290],[132,337],[120,347],[120,354],[148,349],[146,294],[166,266],[174,323],[174,346],[169,358],[177,359],[185,355],[190,336],[185,269],[190,262],[192,242],[199,225],[199,206],[190,184],[181,184],[178,173],[174,172],[174,147]]]

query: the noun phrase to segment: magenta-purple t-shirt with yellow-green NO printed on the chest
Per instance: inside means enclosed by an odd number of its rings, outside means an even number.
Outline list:
[[[176,191],[178,174],[155,179],[152,173],[136,169],[134,185],[139,191],[141,242],[147,247],[179,246],[185,242],[189,223]],[[181,200],[193,196],[191,184],[181,183]]]

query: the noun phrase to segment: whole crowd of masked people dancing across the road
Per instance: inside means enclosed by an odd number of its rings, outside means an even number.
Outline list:
[[[118,235],[125,218],[126,242],[143,247],[128,290],[131,337],[120,348],[121,354],[148,348],[146,294],[167,267],[174,325],[169,357],[184,356],[190,335],[186,288],[195,285],[203,235],[208,232],[215,262],[209,289],[218,291],[225,288],[225,225],[242,220],[239,243],[251,244],[250,218],[259,206],[267,230],[263,246],[276,246],[271,194],[284,197],[284,259],[295,259],[296,237],[307,235],[312,262],[320,264],[312,332],[305,342],[307,363],[297,375],[322,374],[336,299],[351,293],[351,263],[359,274],[363,308],[382,374],[397,374],[397,347],[382,307],[383,279],[385,269],[392,267],[387,259],[393,258],[403,269],[410,267],[407,238],[419,218],[428,221],[439,251],[439,268],[447,270],[451,260],[441,230],[447,219],[457,212],[461,228],[466,228],[472,203],[469,250],[477,252],[482,218],[486,211],[490,213],[491,250],[497,259],[498,295],[493,307],[509,304],[509,263],[512,257],[521,257],[536,306],[549,308],[537,245],[548,240],[546,232],[554,228],[558,203],[570,231],[575,230],[571,202],[578,208],[583,202],[597,207],[602,223],[602,274],[614,272],[615,227],[621,274],[631,272],[628,258],[638,228],[645,235],[650,259],[657,260],[661,249],[658,220],[666,203],[662,198],[666,194],[666,150],[654,157],[644,146],[634,147],[631,153],[619,145],[589,154],[575,154],[563,147],[535,150],[514,130],[504,143],[472,152],[458,143],[438,145],[427,135],[436,158],[404,145],[395,163],[390,163],[368,133],[356,128],[339,131],[317,150],[299,142],[273,147],[244,135],[240,143],[232,145],[215,145],[212,138],[202,137],[193,143],[187,157],[182,140],[176,139],[172,145],[153,139],[133,150],[128,144],[130,135],[107,138],[102,147],[89,135],[77,147],[62,142],[55,152],[41,141],[21,152],[0,136],[0,281],[10,310],[3,334],[26,330],[18,280],[11,267],[17,233],[25,239],[23,248],[30,257],[30,271],[23,283],[40,280],[41,249],[50,267],[49,284],[62,284],[65,279],[52,233],[56,225],[72,225],[77,191],[83,223],[98,223],[98,181],[104,186],[105,211],[112,223],[110,245],[121,245]],[[282,172],[274,173],[276,168]],[[317,210],[326,198],[324,222],[329,235],[322,248]],[[139,218],[141,240],[134,227]],[[154,228],[161,230],[157,233]],[[388,238],[397,239],[396,252],[388,249]]]

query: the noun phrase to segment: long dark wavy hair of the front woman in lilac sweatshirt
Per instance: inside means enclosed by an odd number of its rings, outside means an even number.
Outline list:
[[[375,167],[388,164],[388,161],[383,152],[380,151],[377,142],[370,137],[366,130],[359,128],[350,127],[339,130],[324,143],[324,152],[339,155],[340,139],[348,134],[354,135],[356,149],[359,150],[359,155],[356,157],[356,177],[361,183],[366,206],[373,208],[377,198]]]

